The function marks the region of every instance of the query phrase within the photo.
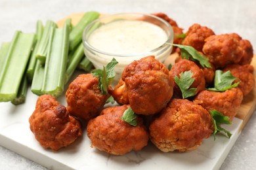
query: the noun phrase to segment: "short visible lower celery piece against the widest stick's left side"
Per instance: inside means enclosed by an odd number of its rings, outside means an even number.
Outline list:
[[[43,95],[43,76],[45,75],[45,67],[41,64],[39,59],[37,59],[35,64],[35,73],[33,74],[33,80],[31,85],[31,91],[36,95]]]

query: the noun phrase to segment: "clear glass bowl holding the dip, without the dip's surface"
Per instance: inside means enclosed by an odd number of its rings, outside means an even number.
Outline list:
[[[139,53],[127,52],[127,54],[115,54],[114,52],[106,52],[104,50],[95,48],[95,46],[92,46],[92,44],[89,43],[89,37],[96,29],[102,27],[102,25],[106,25],[117,20],[144,21],[150,24],[158,25],[158,27],[160,27],[164,33],[166,33],[167,39],[166,41],[163,41],[163,43],[160,44],[157,48]],[[113,58],[118,61],[118,64],[115,67],[115,80],[117,81],[121,77],[123,69],[134,60],[139,60],[140,58],[144,58],[146,56],[155,56],[156,59],[163,62],[165,58],[169,56],[172,50],[172,46],[166,44],[165,42],[173,43],[173,29],[169,23],[165,22],[165,20],[151,14],[122,13],[104,16],[91,22],[91,24],[87,25],[83,31],[82,39],[85,56],[93,63],[96,69],[102,69],[103,65],[107,65]],[[154,39],[152,39],[150,42],[152,41],[154,41]]]

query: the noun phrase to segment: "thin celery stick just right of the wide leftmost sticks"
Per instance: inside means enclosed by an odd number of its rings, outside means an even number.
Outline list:
[[[36,28],[37,42],[35,44],[35,48],[32,52],[31,57],[30,57],[30,63],[28,65],[28,69],[27,69],[27,76],[28,76],[28,80],[30,80],[30,82],[32,82],[33,74],[35,72],[35,63],[37,61],[36,54],[37,54],[37,50],[38,50],[38,47],[39,47],[39,42],[41,41],[42,35],[43,35],[43,23],[40,20],[38,20],[37,21],[37,28]]]

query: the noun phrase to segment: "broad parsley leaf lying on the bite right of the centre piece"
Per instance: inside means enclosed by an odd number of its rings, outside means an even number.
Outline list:
[[[189,88],[195,80],[192,76],[193,74],[191,71],[185,71],[184,73],[181,73],[181,78],[179,78],[179,76],[175,76],[174,78],[176,84],[181,89],[183,99],[196,95],[196,88]]]

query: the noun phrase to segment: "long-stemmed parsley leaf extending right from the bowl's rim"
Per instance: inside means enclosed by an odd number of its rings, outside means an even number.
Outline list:
[[[185,45],[181,45],[181,44],[171,44],[171,43],[168,43],[168,42],[166,42],[166,44],[179,47],[180,50],[181,50],[181,57],[182,58],[184,58],[184,59],[190,59],[191,58],[192,60],[199,61],[200,65],[202,65],[203,68],[204,67],[211,68],[211,64],[209,63],[209,59],[205,58],[205,56],[200,54],[200,52],[198,52],[192,46],[185,46]]]

